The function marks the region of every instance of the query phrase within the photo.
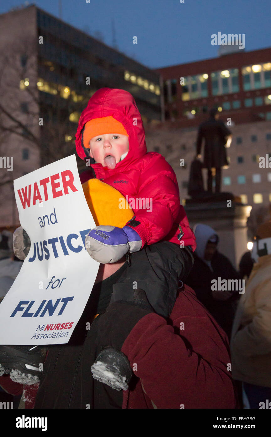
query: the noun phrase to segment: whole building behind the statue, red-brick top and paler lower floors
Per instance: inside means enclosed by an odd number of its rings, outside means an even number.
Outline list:
[[[271,49],[239,50],[157,71],[163,77],[166,121],[156,129],[147,128],[147,146],[173,166],[183,203],[198,127],[211,108],[218,108],[233,134],[221,190],[241,196],[254,208],[269,205],[271,160],[262,168],[260,158],[271,157]]]

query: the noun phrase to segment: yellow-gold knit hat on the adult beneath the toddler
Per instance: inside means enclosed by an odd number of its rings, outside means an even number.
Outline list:
[[[111,185],[99,179],[89,179],[82,187],[96,226],[111,225],[122,228],[134,216],[126,199]]]

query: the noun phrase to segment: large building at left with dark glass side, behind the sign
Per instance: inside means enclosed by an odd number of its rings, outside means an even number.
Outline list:
[[[75,153],[96,90],[127,90],[144,125],[161,121],[159,73],[34,5],[0,15],[0,61],[0,229],[19,223],[13,180]]]

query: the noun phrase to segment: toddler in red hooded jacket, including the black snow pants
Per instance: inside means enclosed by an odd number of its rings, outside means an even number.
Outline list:
[[[185,278],[192,268],[195,236],[180,205],[173,169],[159,153],[147,153],[142,118],[132,94],[111,88],[96,91],[81,114],[76,150],[90,167],[80,175],[81,182],[96,177],[111,185],[135,213],[122,229],[105,225],[91,229],[85,242],[88,253],[103,264],[132,254],[131,262],[127,259],[132,266],[122,275],[127,293],[136,281],[155,311],[168,316],[178,276]],[[119,208],[125,208],[123,199]],[[135,255],[138,252],[141,255]],[[163,274],[157,271],[161,265]],[[156,276],[151,278],[153,271]],[[148,292],[153,281],[156,291]]]

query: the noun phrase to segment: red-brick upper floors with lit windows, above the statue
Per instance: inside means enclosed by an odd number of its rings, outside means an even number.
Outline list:
[[[196,126],[210,108],[235,124],[271,120],[271,49],[234,52],[156,69],[163,77],[166,120]]]

